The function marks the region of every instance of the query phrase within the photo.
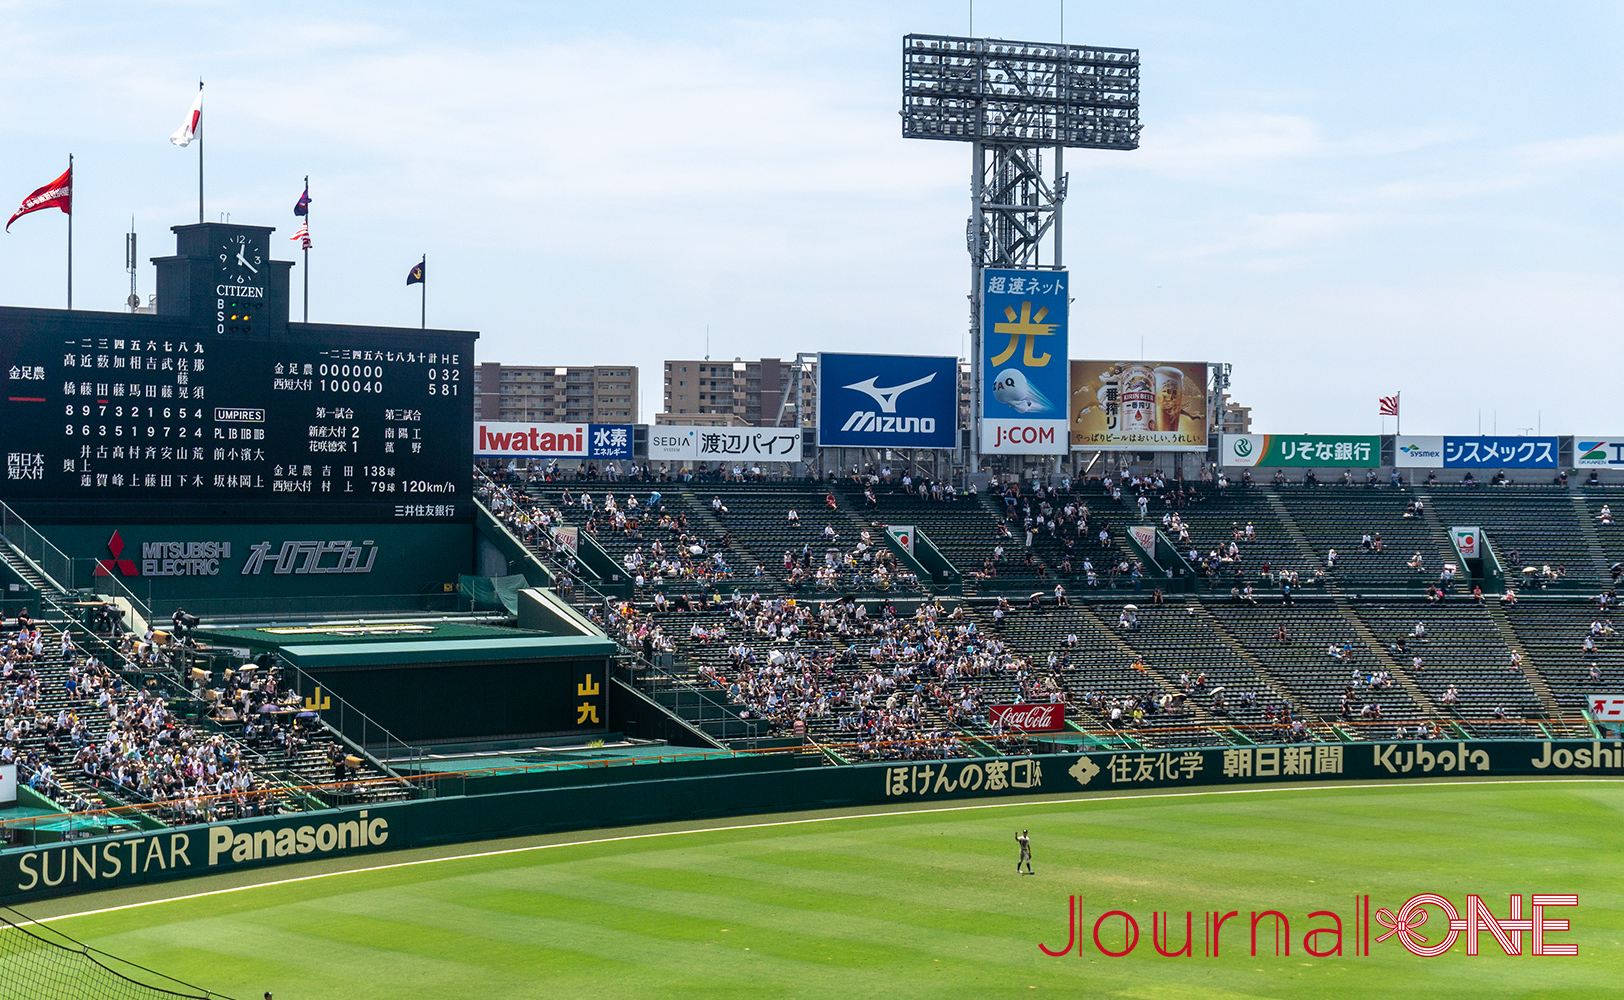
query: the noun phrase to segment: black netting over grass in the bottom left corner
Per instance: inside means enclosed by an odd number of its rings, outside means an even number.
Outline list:
[[[231,1000],[0,909],[0,1000]]]

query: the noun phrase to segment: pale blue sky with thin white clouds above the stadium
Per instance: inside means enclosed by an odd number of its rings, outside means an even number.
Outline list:
[[[310,175],[313,321],[416,326],[425,253],[432,326],[635,364],[651,422],[706,343],[968,349],[970,148],[901,138],[908,32],[1062,3],[0,0],[0,209],[73,153],[75,305],[120,308],[132,216],[143,260],[197,221],[201,78],[208,219],[294,260]],[[1395,391],[1410,433],[1624,432],[1624,6],[1072,0],[1064,41],[1142,54],[1140,148],[1065,157],[1072,357],[1229,362],[1262,432]],[[0,235],[0,305],[63,289],[60,213]]]

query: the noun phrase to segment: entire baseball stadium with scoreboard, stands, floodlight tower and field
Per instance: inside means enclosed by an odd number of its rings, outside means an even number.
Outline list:
[[[200,84],[156,292],[132,232],[127,310],[71,242],[0,307],[0,1000],[1618,989],[1624,435],[1254,432],[1104,349],[1064,157],[1142,65],[905,36],[968,331],[646,420],[429,255],[310,321],[309,180],[302,244],[211,221]]]

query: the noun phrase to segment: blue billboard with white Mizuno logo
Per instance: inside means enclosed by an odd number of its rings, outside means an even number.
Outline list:
[[[822,448],[955,448],[958,359],[818,354]]]

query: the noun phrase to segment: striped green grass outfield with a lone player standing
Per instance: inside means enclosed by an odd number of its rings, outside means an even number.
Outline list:
[[[1013,873],[1023,826],[1034,877]],[[78,912],[52,924],[244,1000],[1624,995],[1624,781],[1005,799],[651,833],[274,867],[24,909]],[[1572,920],[1553,940],[1579,956],[1535,958],[1525,935],[1525,955],[1507,958],[1484,933],[1475,958],[1463,940],[1418,958],[1397,938],[1377,945],[1376,924],[1374,955],[1353,956],[1358,893],[1372,912],[1439,893],[1462,914],[1476,893],[1502,917],[1509,893],[1577,893],[1577,909],[1551,916]],[[1039,940],[1065,943],[1069,894],[1083,899],[1085,937],[1104,911],[1138,917],[1138,948],[1108,958],[1086,940],[1041,955]],[[1202,956],[1210,909],[1241,911],[1221,958]],[[1263,909],[1291,919],[1289,958],[1267,932],[1247,955],[1247,912]],[[1341,958],[1301,950],[1319,909],[1348,925]],[[1155,953],[1151,911],[1177,914],[1176,945],[1195,911],[1194,958]],[[1122,924],[1111,927],[1119,948]],[[1432,912],[1423,933],[1440,930]]]

